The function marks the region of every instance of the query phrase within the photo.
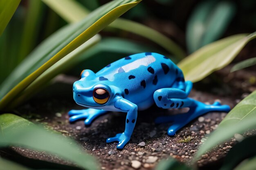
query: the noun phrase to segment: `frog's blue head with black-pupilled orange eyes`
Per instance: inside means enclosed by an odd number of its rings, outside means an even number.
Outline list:
[[[101,107],[108,104],[111,89],[101,83],[91,70],[83,70],[79,81],[74,82],[73,97],[77,104],[85,107]]]

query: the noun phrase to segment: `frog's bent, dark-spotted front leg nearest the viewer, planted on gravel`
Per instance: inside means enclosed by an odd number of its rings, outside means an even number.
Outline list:
[[[124,146],[130,140],[133,129],[135,127],[138,107],[136,104],[133,104],[132,102],[129,102],[124,98],[117,99],[114,106],[115,108],[118,108],[124,112],[127,112],[126,126],[123,133],[119,133],[115,137],[108,138],[107,143],[118,141],[119,143],[117,145],[117,149],[123,149]]]

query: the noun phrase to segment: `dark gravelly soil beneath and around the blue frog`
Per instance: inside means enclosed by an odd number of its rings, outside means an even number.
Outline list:
[[[256,73],[253,70],[229,73],[230,68],[231,66],[228,66],[211,75],[209,79],[196,83],[195,89],[197,90],[193,90],[190,97],[207,104],[218,100],[233,108],[241,99],[255,90]],[[219,81],[225,82],[225,84],[217,83],[212,86],[211,79],[214,77],[218,77]],[[65,82],[63,82],[63,78]],[[154,124],[154,119],[159,115],[176,114],[186,112],[186,110],[161,109],[153,106],[139,112],[130,142],[123,150],[117,150],[117,143],[106,144],[106,138],[124,131],[126,114],[108,113],[96,119],[90,127],[85,127],[83,121],[70,124],[68,110],[83,109],[72,100],[72,91],[66,92],[66,89],[72,89],[74,77],[61,75],[55,80],[57,81],[54,84],[38,95],[40,97],[21,106],[17,112],[25,114],[22,116],[33,122],[45,124],[65,136],[74,138],[83,150],[98,159],[102,170],[133,170],[135,165],[132,165],[132,162],[137,163],[139,170],[153,169],[160,160],[168,159],[170,156],[190,164],[198,147],[207,139],[207,135],[218,127],[220,121],[227,114],[207,113],[182,128],[174,137],[169,137],[166,130],[171,124],[157,125]],[[203,86],[207,88],[205,91],[204,88],[201,88],[202,91],[200,91],[200,87]],[[214,151],[203,155],[198,161],[198,168],[202,170],[218,169],[227,152],[236,143],[236,139],[231,139]],[[70,163],[44,152],[16,147],[11,149],[27,158],[70,165]],[[0,152],[0,155],[9,157],[9,159],[12,159],[13,156],[4,150]]]

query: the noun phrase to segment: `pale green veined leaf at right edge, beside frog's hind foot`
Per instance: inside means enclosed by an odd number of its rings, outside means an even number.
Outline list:
[[[210,134],[199,148],[195,159],[236,133],[243,134],[248,129],[256,129],[256,91],[237,104],[221,121],[218,128]]]

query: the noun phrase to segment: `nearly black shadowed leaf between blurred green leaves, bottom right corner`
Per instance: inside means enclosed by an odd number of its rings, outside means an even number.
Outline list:
[[[244,159],[256,155],[256,136],[247,137],[228,152],[220,170],[233,170]]]

